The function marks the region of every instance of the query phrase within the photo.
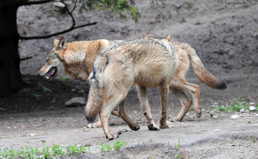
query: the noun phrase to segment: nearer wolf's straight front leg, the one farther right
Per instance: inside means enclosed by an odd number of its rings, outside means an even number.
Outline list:
[[[169,92],[169,82],[162,82],[160,84],[160,104],[161,104],[161,111],[160,111],[160,128],[168,128],[167,125],[167,97]]]

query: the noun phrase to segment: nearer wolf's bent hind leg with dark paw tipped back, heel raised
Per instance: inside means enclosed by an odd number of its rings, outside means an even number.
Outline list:
[[[118,107],[118,113],[120,117],[124,120],[124,122],[127,123],[129,128],[131,130],[137,131],[140,129],[140,126],[136,124],[127,114],[126,109],[125,109],[125,99],[119,104]]]

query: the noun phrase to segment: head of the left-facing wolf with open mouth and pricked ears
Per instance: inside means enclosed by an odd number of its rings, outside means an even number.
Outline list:
[[[64,75],[64,58],[63,53],[66,49],[66,39],[61,37],[60,40],[54,40],[54,47],[49,51],[45,65],[39,70],[37,76],[45,76],[48,81],[58,75]]]

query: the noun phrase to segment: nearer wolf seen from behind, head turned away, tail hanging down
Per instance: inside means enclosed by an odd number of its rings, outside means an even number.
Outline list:
[[[99,113],[102,128],[109,140],[118,134],[110,132],[108,120],[117,105],[120,117],[130,129],[140,129],[125,109],[125,98],[131,85],[138,91],[149,130],[168,128],[167,97],[169,82],[178,65],[176,50],[167,38],[142,38],[116,43],[104,49],[93,63],[88,77],[91,83],[85,116],[93,122]],[[156,126],[147,100],[146,87],[160,87],[160,128]]]

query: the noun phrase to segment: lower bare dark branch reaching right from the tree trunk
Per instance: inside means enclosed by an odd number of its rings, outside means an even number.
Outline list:
[[[46,39],[46,38],[53,37],[53,36],[56,36],[56,35],[59,35],[59,34],[67,33],[67,32],[69,32],[69,31],[74,30],[74,29],[77,29],[77,28],[86,27],[86,26],[90,26],[90,25],[95,25],[95,24],[97,24],[97,23],[98,23],[98,22],[94,22],[94,23],[79,25],[79,26],[77,26],[77,27],[72,26],[70,29],[63,30],[63,31],[60,31],[60,32],[57,32],[57,33],[53,33],[53,34],[50,34],[50,35],[46,35],[46,36],[36,36],[36,37],[22,37],[22,36],[20,36],[19,39],[21,39],[21,40]]]

